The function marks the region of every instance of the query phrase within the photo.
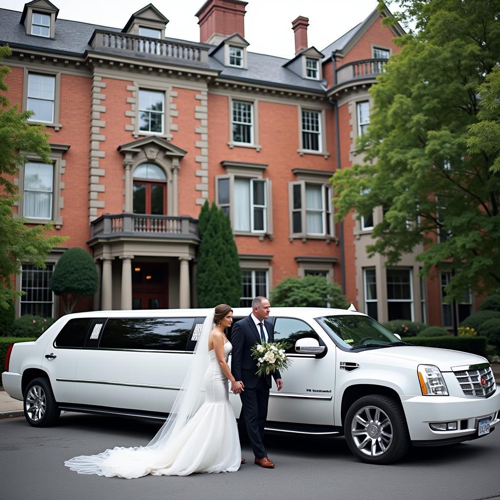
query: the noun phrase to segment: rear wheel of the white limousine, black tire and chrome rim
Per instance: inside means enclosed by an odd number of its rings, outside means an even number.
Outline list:
[[[48,378],[31,380],[24,391],[23,401],[24,417],[33,427],[53,425],[61,413]]]

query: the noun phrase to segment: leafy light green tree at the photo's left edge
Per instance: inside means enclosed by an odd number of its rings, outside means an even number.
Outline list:
[[[6,45],[0,47],[0,60],[11,55]],[[32,111],[19,112],[5,97],[8,90],[5,77],[10,69],[0,66],[0,307],[8,308],[12,300],[23,294],[15,291],[11,276],[20,273],[20,263],[31,263],[45,267],[47,254],[67,238],[49,236],[53,228],[50,222],[28,227],[24,218],[13,218],[12,207],[20,198],[12,178],[19,166],[26,162],[26,155],[19,151],[37,154],[42,161],[50,163],[48,134],[41,125],[28,123]]]

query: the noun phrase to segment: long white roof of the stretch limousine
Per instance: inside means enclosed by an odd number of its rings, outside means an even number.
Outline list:
[[[203,309],[135,309],[135,310],[109,310],[109,311],[89,311],[76,312],[63,316],[67,319],[73,317],[199,317],[206,316],[213,312],[213,308]],[[251,307],[234,307],[233,316],[248,316]],[[362,312],[347,309],[333,309],[328,307],[272,307],[270,316],[314,318],[319,316],[338,316],[345,314],[361,314]]]

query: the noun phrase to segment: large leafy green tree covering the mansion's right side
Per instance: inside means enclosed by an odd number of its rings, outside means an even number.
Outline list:
[[[413,19],[416,31],[396,40],[401,50],[370,88],[370,125],[358,142],[366,163],[335,172],[334,203],[338,218],[381,205],[368,253],[394,264],[423,243],[422,274],[446,262],[454,269],[448,300],[459,299],[466,288],[500,283],[500,174],[490,170],[494,154],[466,149],[484,109],[476,89],[491,85],[500,60],[499,4],[396,3],[398,17]],[[497,121],[498,110],[492,115]]]

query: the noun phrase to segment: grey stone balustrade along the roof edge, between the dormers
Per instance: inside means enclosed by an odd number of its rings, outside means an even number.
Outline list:
[[[90,46],[94,50],[111,50],[123,54],[140,56],[155,55],[178,62],[207,63],[208,49],[188,42],[149,38],[137,34],[120,33],[116,31],[105,31],[96,29],[90,38]]]

